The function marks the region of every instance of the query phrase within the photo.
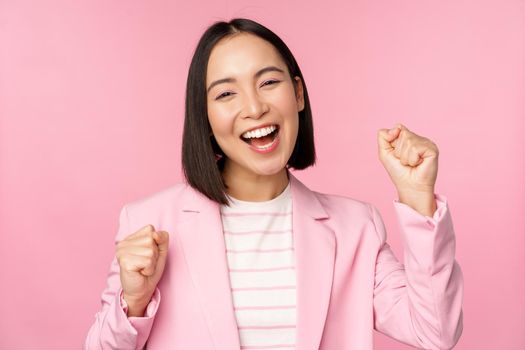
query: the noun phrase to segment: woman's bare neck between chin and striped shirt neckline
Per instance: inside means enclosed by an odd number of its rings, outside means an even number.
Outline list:
[[[241,201],[269,201],[281,194],[288,186],[289,178],[286,168],[274,175],[258,175],[235,170],[226,164],[222,177],[228,186],[226,193]]]

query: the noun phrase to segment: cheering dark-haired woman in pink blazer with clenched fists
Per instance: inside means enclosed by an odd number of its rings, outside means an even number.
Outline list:
[[[212,25],[188,74],[187,181],[122,208],[84,349],[363,350],[373,329],[452,348],[463,277],[434,194],[437,146],[401,124],[380,129],[378,145],[399,194],[404,265],[373,205],[290,172],[313,165],[315,148],[286,45],[251,20]]]

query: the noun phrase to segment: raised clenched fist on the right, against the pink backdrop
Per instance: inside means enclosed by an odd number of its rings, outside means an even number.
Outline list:
[[[402,124],[390,130],[379,129],[377,139],[379,159],[392,179],[401,202],[412,202],[407,204],[413,207],[424,206],[421,202],[428,202],[429,198],[433,202],[438,171],[437,145]]]

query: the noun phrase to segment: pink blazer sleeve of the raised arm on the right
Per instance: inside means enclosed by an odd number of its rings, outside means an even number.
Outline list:
[[[370,205],[380,248],[374,281],[374,329],[421,349],[452,349],[463,331],[463,274],[455,260],[455,234],[445,196],[425,216],[394,200],[404,264],[386,243],[377,208]]]

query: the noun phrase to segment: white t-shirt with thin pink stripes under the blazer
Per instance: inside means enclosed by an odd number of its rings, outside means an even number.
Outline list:
[[[228,198],[221,218],[241,349],[295,349],[290,182],[269,201]]]

